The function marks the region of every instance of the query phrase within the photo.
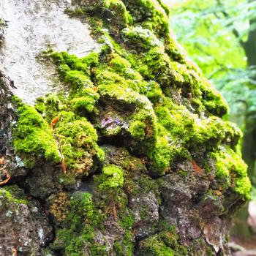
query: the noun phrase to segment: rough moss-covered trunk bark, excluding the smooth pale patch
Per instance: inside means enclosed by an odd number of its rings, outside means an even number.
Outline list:
[[[0,255],[229,255],[250,184],[224,100],[161,1],[74,4],[102,50],[45,53],[68,96],[32,107],[1,74]]]

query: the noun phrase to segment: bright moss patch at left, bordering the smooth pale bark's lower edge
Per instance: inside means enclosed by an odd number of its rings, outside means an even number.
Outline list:
[[[19,114],[14,146],[27,167],[33,167],[36,160],[44,156],[53,163],[64,162],[67,170],[78,176],[89,173],[94,156],[104,159],[97,145],[97,132],[84,117],[85,113],[94,111],[99,98],[89,78],[89,69],[97,63],[97,54],[91,53],[82,61],[67,53],[56,53],[53,57],[56,63],[64,59],[70,67],[78,69],[74,72],[67,64],[59,67],[72,93],[68,99],[54,94],[45,99],[41,97],[34,108],[14,99],[18,102]],[[57,120],[51,130],[54,118]]]

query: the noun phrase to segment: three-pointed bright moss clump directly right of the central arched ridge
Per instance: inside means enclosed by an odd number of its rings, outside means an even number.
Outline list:
[[[211,150],[237,136],[236,129],[219,118],[200,120],[197,115],[172,103],[170,99],[165,98],[162,102],[154,108],[159,124],[157,143],[148,149],[148,156],[159,173],[165,173],[174,159],[189,159],[188,148],[205,144]]]

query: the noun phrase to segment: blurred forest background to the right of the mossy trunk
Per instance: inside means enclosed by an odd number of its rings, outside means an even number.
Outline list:
[[[165,2],[178,42],[224,95],[230,106],[225,118],[244,132],[241,149],[254,185],[249,213],[256,214],[256,0]],[[256,246],[256,218],[248,225],[249,213],[245,206],[237,214],[233,240]]]

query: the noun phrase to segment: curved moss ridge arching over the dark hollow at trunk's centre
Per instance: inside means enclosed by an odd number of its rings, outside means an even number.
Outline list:
[[[105,58],[110,59],[109,63],[105,62],[95,69],[95,82],[100,96],[122,102],[124,108],[125,106],[128,109],[135,108],[135,112],[126,117],[130,126],[129,132],[132,137],[140,140],[144,137],[153,138],[156,132],[156,117],[151,102],[140,94],[140,91],[146,91],[147,83],[143,83],[138,72],[132,70],[129,62],[116,53],[110,51]],[[143,127],[146,128],[145,135],[143,135]],[[121,132],[121,129],[117,128],[115,133],[112,131],[109,135],[117,135]]]

